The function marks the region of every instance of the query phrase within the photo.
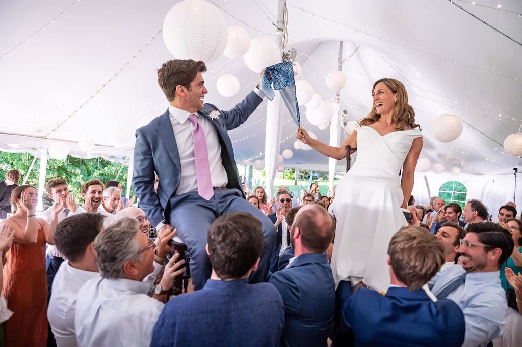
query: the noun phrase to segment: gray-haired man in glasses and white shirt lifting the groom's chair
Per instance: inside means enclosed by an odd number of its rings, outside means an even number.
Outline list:
[[[174,255],[151,298],[151,286],[143,280],[155,270],[155,249],[156,243],[139,232],[131,218],[118,220],[98,234],[94,251],[101,276],[85,283],[76,302],[79,346],[150,345],[167,293],[184,271],[180,269],[184,261],[176,263],[179,255]]]

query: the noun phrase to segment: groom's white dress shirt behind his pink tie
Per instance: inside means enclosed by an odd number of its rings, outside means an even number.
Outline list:
[[[185,110],[169,105],[169,118],[176,138],[177,152],[181,160],[181,181],[177,188],[176,195],[188,192],[197,192],[196,164],[194,162],[194,139],[192,130],[194,125],[188,120],[188,113]],[[207,140],[208,160],[212,187],[224,187],[228,183],[227,171],[221,163],[221,145],[219,144],[218,131],[211,124],[208,117],[201,117],[197,113],[198,122]]]

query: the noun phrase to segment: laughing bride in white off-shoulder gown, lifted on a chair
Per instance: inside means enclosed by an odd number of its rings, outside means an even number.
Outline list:
[[[336,287],[350,281],[352,287],[386,291],[388,243],[407,224],[401,207],[406,208],[413,189],[422,134],[401,82],[378,80],[372,96],[370,114],[340,147],[312,139],[303,128],[296,138],[338,160],[346,158],[347,145],[357,147],[357,160],[337,185],[330,206],[337,218],[331,268]]]

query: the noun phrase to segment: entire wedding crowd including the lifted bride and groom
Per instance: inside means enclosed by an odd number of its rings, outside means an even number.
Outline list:
[[[374,83],[370,114],[339,147],[296,131],[336,159],[357,148],[335,197],[313,182],[270,199],[263,187],[245,194],[228,131],[289,71],[262,71],[228,111],[204,103],[205,71],[192,59],[158,69],[169,107],[136,132],[137,206],[116,181],[87,180],[80,202],[53,178],[53,204],[40,214],[37,189],[7,172],[4,345],[520,344],[516,206],[491,222],[476,199],[464,209],[436,196],[415,205],[422,133],[402,83]]]

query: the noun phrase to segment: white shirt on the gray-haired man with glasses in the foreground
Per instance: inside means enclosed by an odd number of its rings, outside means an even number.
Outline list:
[[[147,295],[149,283],[129,279],[87,281],[78,292],[78,346],[149,346],[164,304]]]

